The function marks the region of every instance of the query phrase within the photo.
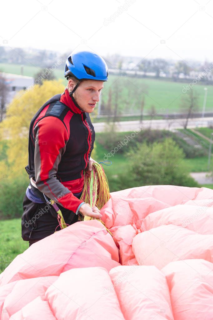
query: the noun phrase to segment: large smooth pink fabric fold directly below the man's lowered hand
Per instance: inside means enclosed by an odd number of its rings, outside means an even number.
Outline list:
[[[0,285],[20,279],[59,276],[76,266],[101,266],[110,270],[119,265],[118,259],[118,249],[103,224],[97,220],[81,221],[18,255],[0,275]]]

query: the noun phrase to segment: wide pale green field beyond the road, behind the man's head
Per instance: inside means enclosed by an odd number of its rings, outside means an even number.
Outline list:
[[[20,74],[20,65],[0,63],[0,70],[7,73]],[[39,71],[38,67],[24,66],[23,74],[25,76],[34,76]],[[63,77],[63,69],[56,69],[54,74],[57,79],[61,78],[66,84],[66,79]],[[118,91],[118,112],[133,113],[141,108],[141,95],[145,92],[144,112],[148,113],[153,105],[156,108],[156,113],[169,114],[179,112],[179,105],[182,97],[186,97],[182,93],[183,86],[189,84],[180,82],[166,81],[164,79],[151,78],[136,78],[127,76],[110,75],[109,81],[104,84],[102,91],[103,102],[105,105],[108,101],[109,89],[112,90],[112,110],[115,105],[115,90]],[[194,85],[195,91],[199,95],[199,111],[202,111],[204,99],[204,87],[208,88],[206,101],[206,111],[212,111],[213,86],[197,83]],[[157,115],[156,114],[156,115]]]

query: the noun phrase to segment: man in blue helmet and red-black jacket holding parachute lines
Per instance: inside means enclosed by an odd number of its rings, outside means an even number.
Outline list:
[[[29,129],[30,184],[23,201],[22,238],[29,245],[53,234],[58,227],[55,200],[65,223],[78,214],[101,218],[97,207],[80,200],[83,170],[92,169],[95,131],[89,114],[108,80],[105,61],[92,52],[72,53],[66,60],[65,92],[48,100],[36,113]]]

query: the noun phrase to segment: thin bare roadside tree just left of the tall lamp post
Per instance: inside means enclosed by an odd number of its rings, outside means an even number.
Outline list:
[[[198,95],[193,89],[184,93],[180,105],[180,111],[186,114],[186,121],[183,125],[184,129],[186,129],[189,118],[192,116],[194,111],[198,111]]]

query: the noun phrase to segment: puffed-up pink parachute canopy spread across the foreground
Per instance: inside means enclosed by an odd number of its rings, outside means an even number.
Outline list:
[[[33,244],[0,275],[2,320],[213,319],[213,190],[111,193],[103,221]]]

